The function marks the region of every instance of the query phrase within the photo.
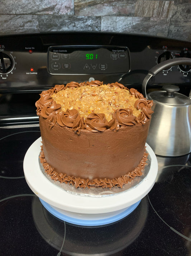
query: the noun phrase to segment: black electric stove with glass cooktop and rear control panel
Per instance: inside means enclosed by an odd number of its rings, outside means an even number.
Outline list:
[[[118,81],[142,89],[149,69],[191,57],[191,42],[117,33],[42,33],[0,37],[0,255],[191,255],[191,154],[157,156],[151,191],[123,219],[99,226],[52,215],[23,171],[40,137],[35,101],[70,81]],[[147,90],[175,84],[189,95],[191,67],[173,66]]]

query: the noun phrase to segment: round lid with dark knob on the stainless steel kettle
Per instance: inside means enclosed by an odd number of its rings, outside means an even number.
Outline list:
[[[191,99],[186,95],[177,93],[180,88],[176,85],[166,84],[162,87],[164,91],[152,91],[149,93],[148,99],[154,100],[168,105],[190,105]]]

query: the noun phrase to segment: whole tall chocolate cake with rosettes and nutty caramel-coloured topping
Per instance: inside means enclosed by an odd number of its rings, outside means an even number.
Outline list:
[[[70,82],[43,91],[36,107],[44,170],[76,188],[123,187],[144,170],[152,105],[118,82]]]

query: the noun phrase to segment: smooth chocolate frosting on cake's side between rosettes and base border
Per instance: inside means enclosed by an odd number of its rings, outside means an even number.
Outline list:
[[[80,136],[58,123],[50,129],[50,123],[42,116],[39,124],[44,156],[54,171],[92,181],[126,175],[139,165],[150,120],[144,125],[120,126],[117,132],[82,129]]]

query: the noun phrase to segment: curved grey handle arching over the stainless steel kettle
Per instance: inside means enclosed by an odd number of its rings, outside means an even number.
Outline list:
[[[157,64],[156,66],[152,67],[149,71],[147,76],[145,76],[143,83],[142,83],[142,91],[143,91],[143,95],[145,98],[147,98],[147,92],[146,92],[146,86],[147,83],[149,81],[149,79],[152,76],[157,75],[158,72],[160,72],[161,70],[174,66],[174,65],[180,65],[180,64],[186,64],[186,65],[190,65],[191,66],[191,59],[190,58],[175,58],[175,59],[169,59],[169,60],[165,60],[159,64]]]

